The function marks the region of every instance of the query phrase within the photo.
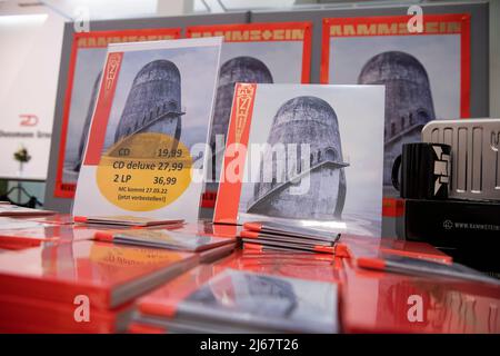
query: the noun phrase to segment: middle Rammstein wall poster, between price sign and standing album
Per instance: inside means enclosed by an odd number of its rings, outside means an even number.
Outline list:
[[[210,132],[211,169],[203,206],[213,208],[236,82],[308,83],[310,22],[217,24],[188,27],[187,36],[224,38]]]

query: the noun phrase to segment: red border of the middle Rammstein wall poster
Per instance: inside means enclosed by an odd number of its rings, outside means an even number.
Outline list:
[[[309,83],[311,78],[311,43],[312,43],[312,22],[253,22],[253,23],[230,23],[230,24],[210,24],[210,26],[190,26],[186,28],[186,37],[192,38],[193,31],[234,31],[234,30],[297,30],[303,29],[303,40],[292,39],[271,39],[271,40],[231,40],[228,42],[288,42],[301,41],[302,49],[302,73],[301,83]],[[224,39],[226,41],[226,39]]]

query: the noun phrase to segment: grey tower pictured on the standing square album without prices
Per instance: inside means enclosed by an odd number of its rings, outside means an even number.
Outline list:
[[[268,144],[270,147],[260,164],[260,180],[253,186],[247,212],[316,220],[340,218],[346,201],[344,167],[348,164],[343,162],[339,123],[332,107],[317,97],[288,100],[273,118]],[[309,170],[302,169],[300,152],[294,161],[289,155],[279,157],[272,149],[276,144],[309,145]],[[264,181],[263,162],[272,165],[271,181]],[[286,167],[284,171],[278,171],[280,166]],[[298,177],[309,175],[309,191],[292,195],[290,187],[297,181],[289,178],[293,177],[278,177],[286,171],[296,171]]]

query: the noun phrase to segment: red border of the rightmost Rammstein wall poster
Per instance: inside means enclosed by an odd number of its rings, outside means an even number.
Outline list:
[[[360,24],[360,23],[387,23],[399,22],[407,23],[411,16],[380,16],[380,17],[359,17],[359,18],[328,18],[323,19],[321,38],[321,66],[320,82],[329,83],[330,72],[330,28],[333,24]],[[427,21],[437,22],[461,22],[460,34],[460,116],[470,117],[470,19],[469,13],[447,13],[447,14],[424,14],[423,23]],[[428,36],[428,34],[449,34],[449,33],[388,33],[388,34],[356,34],[337,37],[380,37],[380,36]],[[398,198],[383,198],[382,216],[398,217],[403,214],[403,204]]]

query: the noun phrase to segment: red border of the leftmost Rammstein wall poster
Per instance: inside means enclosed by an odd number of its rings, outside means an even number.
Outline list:
[[[180,28],[162,28],[162,29],[132,29],[132,30],[111,30],[111,31],[91,31],[91,32],[78,32],[73,33],[73,40],[71,44],[71,55],[68,69],[68,81],[64,91],[63,111],[62,111],[62,123],[61,123],[61,136],[59,140],[59,155],[58,165],[56,174],[56,184],[53,196],[57,198],[73,198],[76,191],[76,184],[63,182],[62,181],[62,169],[64,166],[64,152],[68,135],[69,125],[69,113],[71,105],[71,95],[74,81],[74,69],[77,63],[77,55],[80,47],[78,47],[78,41],[82,38],[112,38],[112,37],[124,37],[124,36],[172,36],[172,38],[178,39],[181,36]],[[106,48],[101,46],[92,46],[86,48]],[[72,190],[62,189],[66,186]]]

